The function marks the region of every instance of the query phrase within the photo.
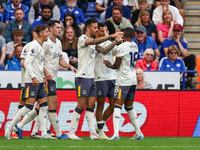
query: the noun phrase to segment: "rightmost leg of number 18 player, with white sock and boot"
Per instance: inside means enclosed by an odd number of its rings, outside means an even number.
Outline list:
[[[131,120],[132,125],[135,128],[135,133],[136,133],[135,136],[131,139],[142,140],[142,139],[144,139],[144,136],[140,130],[140,126],[139,126],[138,119],[137,119],[137,114],[136,114],[135,110],[133,109],[133,101],[134,100],[126,100],[124,102],[125,110],[127,111],[128,115],[129,115],[129,118]]]

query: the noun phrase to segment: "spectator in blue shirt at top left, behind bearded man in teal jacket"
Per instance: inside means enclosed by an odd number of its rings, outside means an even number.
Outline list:
[[[25,6],[24,4],[21,4],[19,0],[12,0],[12,4],[6,6],[6,8],[4,9],[4,21],[6,24],[8,24],[8,22],[10,20],[15,20],[16,16],[15,16],[15,9],[16,8],[22,8],[23,12],[24,12],[24,21],[28,21],[28,12],[29,12],[29,8],[27,6]]]

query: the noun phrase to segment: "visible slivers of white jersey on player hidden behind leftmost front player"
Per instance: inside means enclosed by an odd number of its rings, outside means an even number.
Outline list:
[[[27,52],[28,52],[28,46],[30,46],[30,43],[26,44],[23,49],[22,49],[22,53],[21,53],[21,56],[20,58],[21,59],[25,59],[26,58],[26,55],[27,55]],[[21,69],[21,87],[25,87],[25,68],[22,67]]]

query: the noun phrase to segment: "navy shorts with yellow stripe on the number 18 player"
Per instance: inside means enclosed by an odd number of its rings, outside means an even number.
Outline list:
[[[135,98],[136,85],[115,86],[114,99],[132,100]]]

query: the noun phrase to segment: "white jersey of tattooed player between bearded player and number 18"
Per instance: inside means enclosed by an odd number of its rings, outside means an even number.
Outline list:
[[[111,41],[105,41],[99,44],[101,47],[106,47],[111,44]],[[95,74],[95,81],[104,81],[104,80],[115,80],[116,79],[116,71],[114,69],[110,69],[103,64],[103,60],[108,60],[111,64],[114,63],[113,54],[116,53],[117,46],[115,46],[112,50],[110,50],[107,54],[102,54],[96,52],[95,57],[95,66],[94,66],[94,74]]]

